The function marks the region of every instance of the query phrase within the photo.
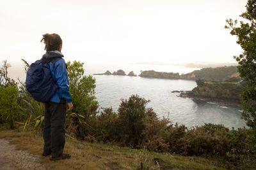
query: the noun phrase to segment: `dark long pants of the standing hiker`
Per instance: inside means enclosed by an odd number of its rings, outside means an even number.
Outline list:
[[[63,152],[66,112],[65,103],[45,103],[44,153],[51,153],[52,157],[58,157]]]

